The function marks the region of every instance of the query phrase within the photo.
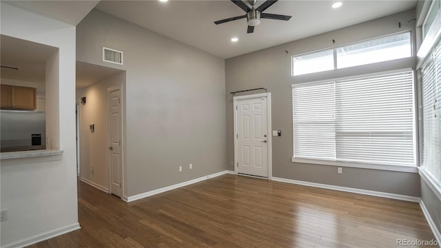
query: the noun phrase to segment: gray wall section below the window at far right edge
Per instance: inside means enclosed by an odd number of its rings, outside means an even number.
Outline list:
[[[438,231],[441,233],[441,200],[423,178],[421,178],[421,200],[426,206],[427,211],[429,211],[433,223],[435,223]]]

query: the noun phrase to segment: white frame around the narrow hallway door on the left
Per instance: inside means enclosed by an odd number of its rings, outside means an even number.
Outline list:
[[[108,87],[107,88],[107,95],[110,96],[110,92],[113,92],[115,90],[119,90],[119,92],[121,92],[121,200],[125,200],[127,201],[127,196],[125,196],[125,191],[124,191],[124,178],[125,178],[125,137],[124,137],[124,116],[125,116],[125,112],[124,112],[124,92],[123,92],[123,84],[118,85],[118,86],[112,86],[112,87]],[[107,125],[108,125],[108,130],[110,131],[110,101],[111,99],[109,99],[108,104],[109,106],[107,107],[107,111],[109,112],[108,117],[107,117]],[[107,144],[110,144],[110,135],[107,134]],[[108,185],[108,189],[109,189],[109,194],[112,193],[112,168],[110,167],[110,153],[109,153],[109,163],[107,163],[108,169],[109,169],[109,185]]]

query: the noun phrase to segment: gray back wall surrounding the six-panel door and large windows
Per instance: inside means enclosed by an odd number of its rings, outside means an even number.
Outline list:
[[[415,23],[408,22],[414,17],[415,10],[400,12],[389,17],[227,59],[225,61],[225,91],[227,94],[227,163],[229,169],[234,169],[234,111],[233,99],[229,92],[267,87],[271,92],[272,99],[272,129],[282,131],[282,136],[272,139],[273,176],[392,194],[420,196],[420,178],[416,173],[343,167],[343,173],[337,174],[337,169],[334,166],[291,162],[293,156],[292,83],[333,79],[399,68],[415,68],[416,57],[296,77],[290,76],[290,57],[295,54],[322,50],[407,30],[412,31],[415,41]],[[401,22],[401,28],[398,27],[399,22]],[[289,31],[287,30],[287,32]],[[336,41],[335,44],[332,42],[333,39]],[[416,51],[413,51],[413,54],[416,54]]]

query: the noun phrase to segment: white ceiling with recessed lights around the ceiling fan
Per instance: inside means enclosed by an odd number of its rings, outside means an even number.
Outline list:
[[[213,23],[245,14],[228,0],[101,1],[96,8],[227,59],[416,6],[416,0],[343,0],[342,7],[332,9],[334,2],[280,0],[264,12],[292,18],[289,21],[262,19],[252,34],[246,32],[246,19],[220,25]],[[258,0],[256,6],[261,3],[263,0]],[[232,43],[232,37],[238,37],[239,41]]]

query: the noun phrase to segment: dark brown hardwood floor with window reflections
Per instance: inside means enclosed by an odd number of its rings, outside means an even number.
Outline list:
[[[224,175],[132,203],[79,183],[81,229],[31,247],[396,247],[418,203]]]

